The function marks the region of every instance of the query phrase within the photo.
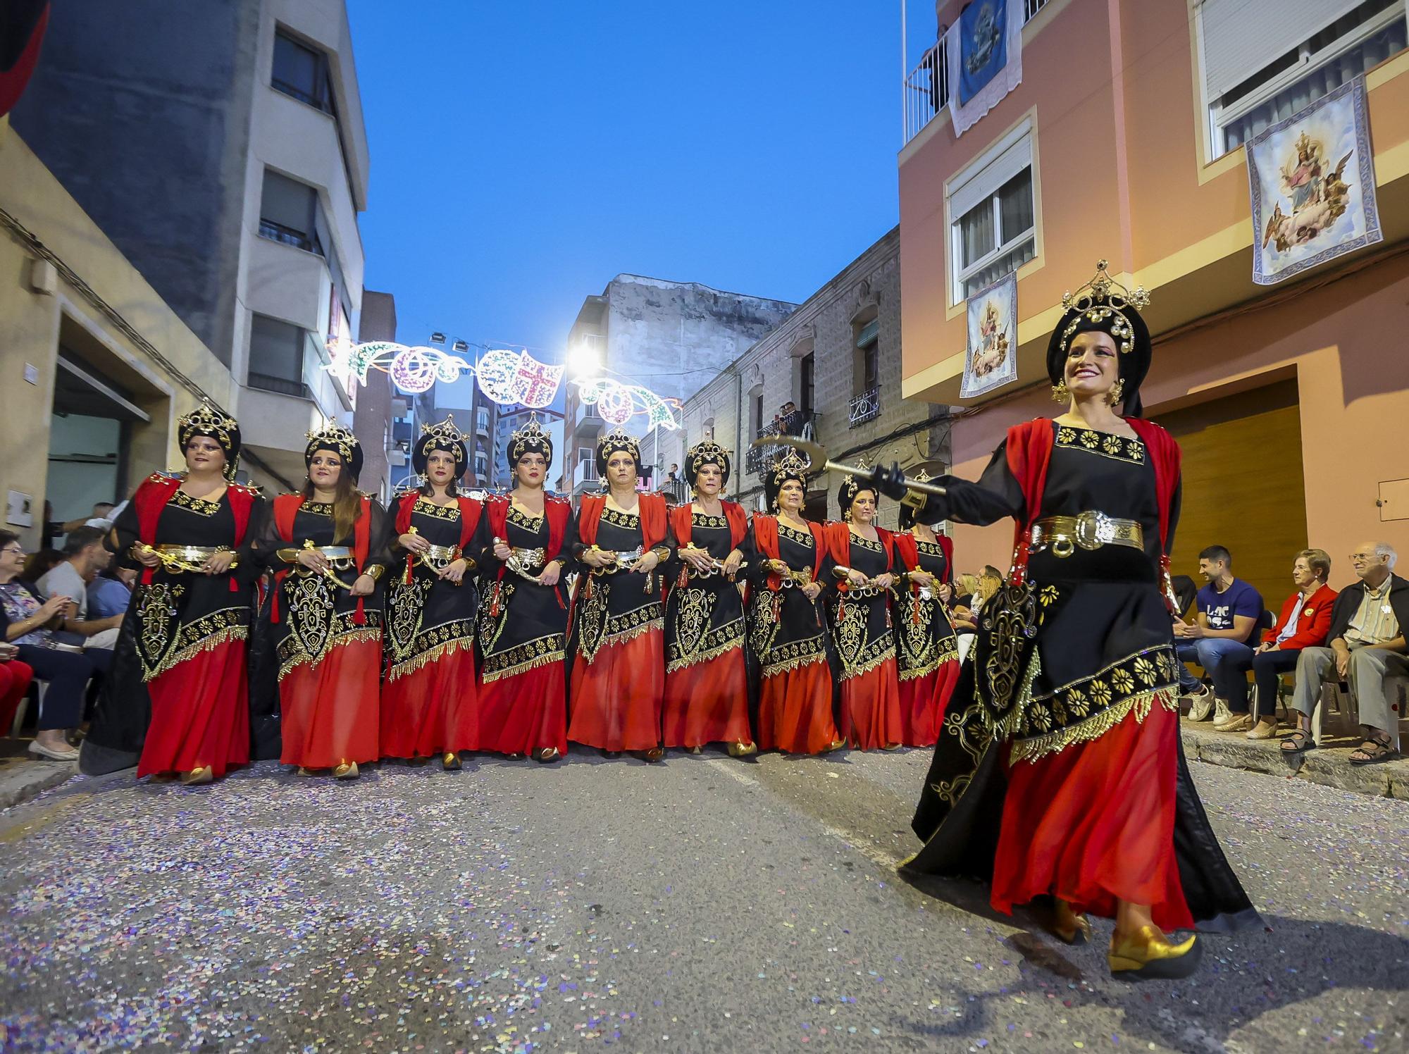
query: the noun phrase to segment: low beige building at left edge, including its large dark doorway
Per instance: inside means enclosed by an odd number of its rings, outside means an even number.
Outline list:
[[[176,418],[228,409],[225,365],[166,306],[0,118],[0,492],[4,526],[39,545],[180,464]]]

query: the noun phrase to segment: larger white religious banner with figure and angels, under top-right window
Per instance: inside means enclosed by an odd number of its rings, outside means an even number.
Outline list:
[[[1365,79],[1341,85],[1248,140],[1247,180],[1258,285],[1384,241]]]

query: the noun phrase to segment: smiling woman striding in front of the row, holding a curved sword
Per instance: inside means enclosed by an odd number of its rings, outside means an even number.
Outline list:
[[[916,810],[926,844],[905,867],[988,878],[1003,912],[1053,898],[1069,943],[1091,934],[1085,913],[1113,917],[1115,976],[1186,976],[1202,946],[1168,930],[1257,913],[1179,745],[1162,596],[1179,447],[1140,417],[1144,290],[1102,261],[1062,303],[1047,372],[1065,413],[1014,426],[978,483],[943,476],[947,496],[930,499],[945,519],[1017,530]]]

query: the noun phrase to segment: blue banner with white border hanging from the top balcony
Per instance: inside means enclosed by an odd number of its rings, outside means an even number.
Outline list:
[[[1023,0],[974,0],[948,28],[950,118],[958,138],[1023,83]]]

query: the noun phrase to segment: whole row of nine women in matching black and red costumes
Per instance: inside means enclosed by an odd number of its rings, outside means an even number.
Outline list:
[[[266,502],[234,480],[238,424],[180,418],[186,471],[148,478],[111,545],[141,566],[80,767],[203,783],[251,760],[355,776],[464,751],[554,761],[568,743],[658,761],[724,744],[816,754],[931,745],[958,675],[948,540],[923,500],[902,531],[847,476],[843,520],[803,516],[807,465],[765,478],[771,513],[720,497],[730,457],[688,455],[689,504],[637,490],[640,450],[596,450],[602,495],[548,496],[552,445],[513,433],[507,495],[458,492],[447,418],[390,510],[362,451],[310,433],[309,478]],[[575,585],[569,590],[568,583]]]

